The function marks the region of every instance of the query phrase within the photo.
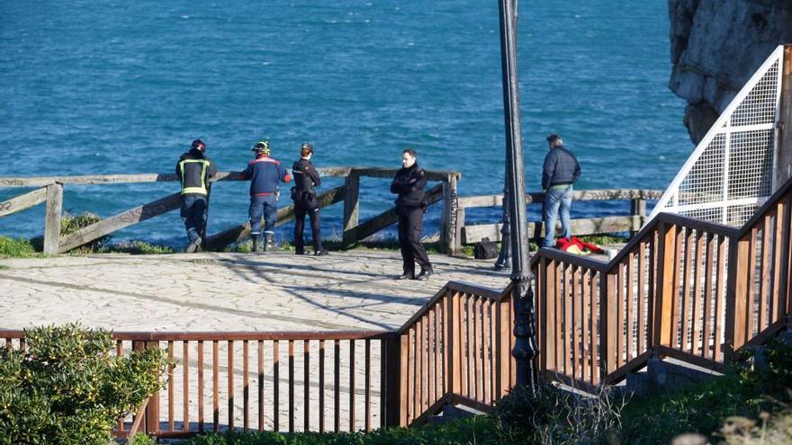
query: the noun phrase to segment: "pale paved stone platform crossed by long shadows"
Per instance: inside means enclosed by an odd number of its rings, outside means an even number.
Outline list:
[[[325,257],[97,254],[0,260],[0,328],[81,321],[116,331],[394,329],[448,280],[502,289],[492,261],[432,255],[426,281],[395,280],[398,252]]]

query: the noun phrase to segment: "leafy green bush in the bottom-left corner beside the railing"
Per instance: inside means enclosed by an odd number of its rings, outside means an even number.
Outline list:
[[[106,445],[171,366],[160,350],[115,357],[110,332],[76,324],[32,328],[25,343],[0,349],[0,445]]]

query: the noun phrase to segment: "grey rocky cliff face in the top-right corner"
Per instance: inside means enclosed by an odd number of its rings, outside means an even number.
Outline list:
[[[792,43],[792,0],[669,0],[671,91],[690,139],[707,134],[770,52]]]

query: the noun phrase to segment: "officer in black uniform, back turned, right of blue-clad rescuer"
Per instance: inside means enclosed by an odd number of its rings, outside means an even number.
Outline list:
[[[305,254],[305,243],[302,232],[305,230],[305,215],[311,219],[311,233],[313,234],[313,254],[324,256],[328,251],[321,246],[319,203],[316,201],[316,187],[321,185],[319,172],[311,164],[313,147],[305,142],[300,147],[300,159],[292,165],[294,187],[292,199],[294,200],[294,253]]]

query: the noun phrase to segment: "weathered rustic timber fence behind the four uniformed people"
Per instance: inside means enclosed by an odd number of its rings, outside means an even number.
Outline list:
[[[324,191],[317,196],[320,208],[337,202],[344,202],[344,231],[343,242],[352,245],[365,239],[367,236],[396,223],[396,209],[388,209],[383,213],[360,223],[360,178],[391,178],[396,174],[396,169],[377,167],[327,167],[317,169],[322,176],[343,177],[345,183],[329,191]],[[440,230],[440,245],[446,252],[451,252],[457,245],[455,234],[458,230],[453,226],[451,209],[455,208],[456,183],[461,174],[458,172],[427,171],[429,181],[439,181],[440,184],[428,189],[428,203],[434,205],[444,201],[444,213]],[[238,172],[219,173],[212,178],[212,182],[241,181]],[[60,218],[63,209],[63,186],[86,184],[117,184],[130,182],[174,182],[178,181],[175,174],[106,174],[91,176],[47,176],[47,177],[17,177],[0,178],[0,187],[39,187],[21,196],[0,202],[0,218],[17,211],[31,208],[46,202],[47,211],[44,218],[44,253],[63,254],[71,249],[85,245],[112,234],[124,227],[130,227],[150,218],[163,215],[179,208],[179,193],[170,194],[164,198],[123,211],[110,218],[105,218],[91,226],[83,227],[67,236],[59,236]],[[281,225],[294,218],[293,205],[278,209],[275,225]],[[231,227],[222,232],[207,236],[204,246],[208,249],[221,249],[227,245],[238,243],[250,235],[249,221],[236,227]]]

